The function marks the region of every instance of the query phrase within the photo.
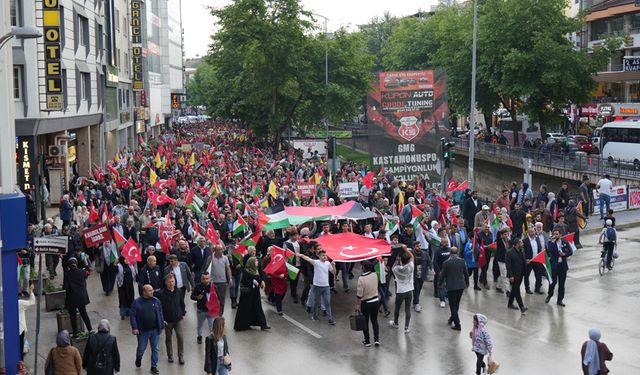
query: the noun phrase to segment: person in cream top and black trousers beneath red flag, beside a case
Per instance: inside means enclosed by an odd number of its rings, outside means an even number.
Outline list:
[[[362,275],[358,278],[356,288],[356,311],[361,311],[365,319],[365,327],[363,330],[364,341],[362,344],[366,347],[371,346],[369,337],[369,321],[373,327],[373,343],[380,346],[380,329],[378,326],[378,275],[373,272],[373,263],[366,260],[362,262]]]

